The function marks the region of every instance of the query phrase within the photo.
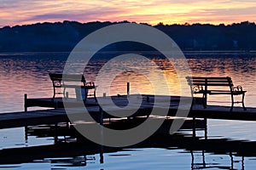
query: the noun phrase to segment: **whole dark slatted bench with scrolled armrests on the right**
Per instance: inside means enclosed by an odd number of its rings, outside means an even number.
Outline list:
[[[244,105],[244,96],[247,91],[243,91],[241,86],[234,86],[230,77],[186,77],[187,81],[191,87],[193,94],[202,94],[202,104],[204,108],[207,107],[207,94],[218,95],[218,94],[228,94],[231,96],[231,108],[235,103],[241,103],[244,110],[246,107]],[[215,88],[213,88],[215,87]],[[227,87],[228,89],[220,89]],[[213,89],[212,89],[213,88]],[[235,101],[234,95],[242,95],[241,101]]]

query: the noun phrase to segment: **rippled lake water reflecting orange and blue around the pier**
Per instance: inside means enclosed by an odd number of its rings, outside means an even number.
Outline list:
[[[194,76],[216,76],[232,77],[235,85],[241,85],[246,94],[246,106],[256,107],[256,54],[249,53],[186,53],[190,69]],[[52,84],[49,80],[49,72],[61,72],[66,64],[68,53],[19,53],[0,54],[0,113],[11,111],[23,111],[23,95],[29,98],[51,97]],[[152,62],[168,82],[170,94],[179,95],[179,84],[177,74],[172,63],[166,59],[150,55]],[[96,73],[102,65],[108,61],[108,57],[92,59],[90,65],[84,70],[87,81],[96,81]],[[113,67],[127,65],[131,60],[123,63],[113,63]],[[175,62],[182,65],[178,60]],[[81,64],[79,61],[77,64]],[[141,64],[143,65],[143,63]],[[147,66],[147,65],[146,65]],[[109,69],[111,75],[112,70]],[[161,88],[162,80],[149,70],[154,81],[159,82]],[[108,76],[105,77],[108,80]],[[104,79],[97,83],[104,83]],[[119,74],[114,80],[108,95],[125,94],[126,82],[131,83],[133,94],[154,94],[147,77],[136,72],[127,71]],[[104,89],[97,91],[98,96],[105,93]],[[219,102],[219,96],[209,98],[209,105],[230,105],[230,97],[223,96]],[[35,108],[39,109],[39,108]],[[218,121],[209,120],[208,135],[215,139],[236,139],[256,141],[256,122],[242,121]],[[187,133],[190,133],[189,131]],[[203,136],[198,131],[199,136]],[[8,148],[22,148],[28,146],[54,144],[50,137],[37,138],[29,136],[24,138],[24,128],[11,128],[0,130],[0,150]],[[256,147],[256,145],[255,145]],[[68,156],[68,155],[67,155]],[[8,169],[196,169],[196,168],[227,168],[227,169],[253,169],[256,167],[256,157],[233,156],[224,154],[204,153],[195,151],[193,156],[182,148],[140,148],[119,150],[114,153],[103,153],[104,162],[100,161],[100,154],[70,157],[44,157],[44,159],[33,160],[19,164],[0,165],[0,168]],[[202,159],[206,164],[202,164]],[[230,159],[232,161],[230,161]],[[79,161],[80,163],[75,163]],[[81,163],[84,162],[84,163]],[[192,163],[193,162],[193,163]],[[232,163],[230,163],[232,162]]]

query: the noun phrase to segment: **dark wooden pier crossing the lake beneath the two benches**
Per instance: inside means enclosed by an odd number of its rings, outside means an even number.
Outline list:
[[[109,97],[113,100],[115,105],[119,107],[124,107],[129,103],[129,99],[131,98],[141,98],[142,104],[139,109],[131,116],[128,117],[116,117],[111,116],[105,111],[101,111],[99,105],[96,104],[95,99],[89,98],[86,100],[84,104],[86,106],[87,111],[89,111],[90,116],[92,116],[96,123],[99,122],[113,122],[116,121],[116,118],[123,120],[124,118],[129,121],[130,124],[138,125],[140,122],[143,122],[147,118],[162,118],[165,119],[166,122],[176,116],[177,109],[183,110],[183,107],[178,108],[178,105],[181,101],[181,98],[178,96],[153,96],[153,95],[118,95]],[[171,99],[171,100],[170,100]],[[189,98],[183,98],[189,99]],[[154,105],[154,100],[160,101],[158,105]],[[171,101],[171,102],[170,102]],[[78,104],[76,99],[67,99],[67,102],[71,108],[68,108],[69,111],[72,111],[73,114],[81,114],[84,112],[84,107],[81,107]],[[69,119],[66,114],[67,108],[64,108],[63,99],[56,98],[52,99],[28,99],[25,97],[25,111],[21,112],[13,112],[13,113],[3,113],[0,114],[0,129],[1,128],[9,128],[9,127],[27,127],[27,126],[35,126],[42,124],[58,124],[60,122],[69,122]],[[39,107],[47,107],[47,109],[41,111],[27,111],[30,110],[33,106]],[[108,110],[113,109],[113,106],[105,103],[104,108],[108,108]],[[168,110],[168,114],[165,117],[159,117],[159,115],[150,115],[152,108],[158,107],[158,111],[161,109],[164,111]],[[134,109],[131,107],[129,109]],[[125,108],[127,111],[127,108]],[[242,120],[242,121],[256,121],[256,108],[247,108],[247,111],[244,111],[241,107],[234,107],[233,111],[230,111],[229,106],[218,106],[218,105],[209,105],[207,109],[204,109],[202,105],[193,105],[192,109],[189,110],[188,117],[193,118],[203,118],[207,123],[207,119],[223,119],[223,120]],[[100,120],[100,119],[103,120]],[[115,118],[115,119],[113,119]],[[136,119],[135,119],[136,118]],[[187,117],[181,117],[182,119],[187,119]],[[138,121],[139,120],[139,121]],[[129,124],[126,123],[126,124]],[[170,122],[172,123],[172,122]],[[118,124],[118,123],[117,123]],[[207,126],[207,125],[206,125]],[[167,128],[167,127],[166,127]],[[169,129],[166,129],[168,132]]]

